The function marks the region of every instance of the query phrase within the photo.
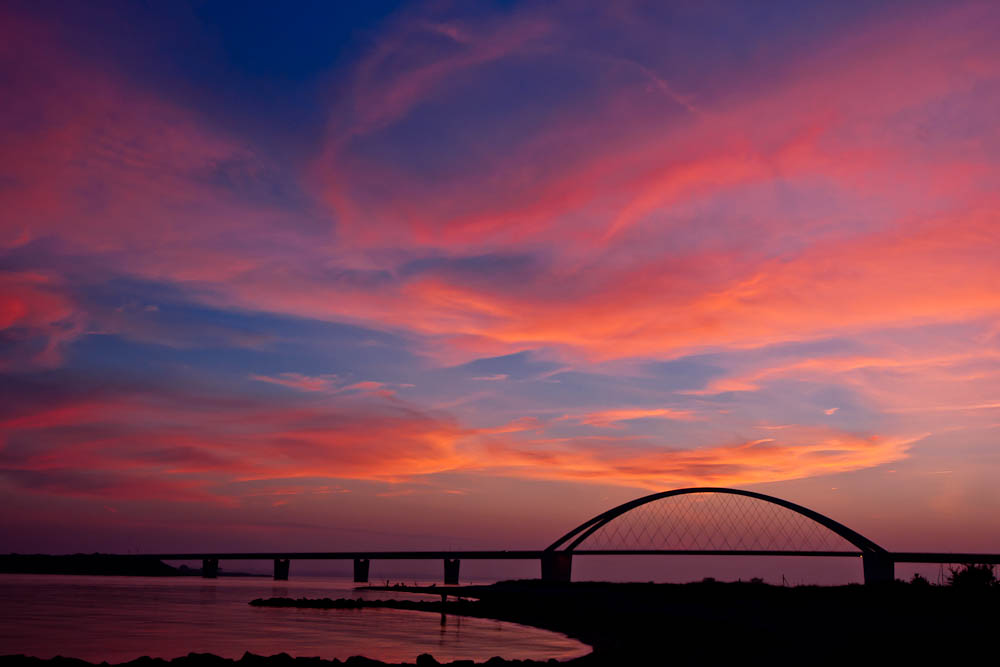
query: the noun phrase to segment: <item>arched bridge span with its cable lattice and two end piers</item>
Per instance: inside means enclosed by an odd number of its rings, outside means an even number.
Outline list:
[[[542,578],[568,581],[579,555],[861,557],[866,583],[892,581],[892,555],[808,507],[754,491],[674,489],[636,498],[583,522],[542,557]]]

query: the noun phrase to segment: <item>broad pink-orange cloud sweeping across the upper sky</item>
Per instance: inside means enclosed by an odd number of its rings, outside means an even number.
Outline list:
[[[591,359],[663,357],[977,317],[998,308],[996,263],[987,252],[995,241],[987,211],[996,198],[984,185],[993,165],[985,157],[928,159],[926,147],[886,130],[900,114],[960,95],[996,73],[982,57],[992,46],[981,39],[979,18],[974,10],[945,12],[935,23],[940,39],[924,39],[927,28],[919,23],[880,26],[845,43],[818,45],[809,66],[783,70],[768,95],[737,90],[676,124],[658,122],[639,105],[634,136],[594,134],[607,125],[604,114],[639,104],[640,89],[624,85],[618,106],[560,117],[512,146],[510,160],[497,156],[485,172],[459,178],[456,196],[450,185],[421,193],[405,174],[388,172],[404,193],[397,202],[403,208],[355,201],[362,218],[338,217],[336,245],[288,228],[278,211],[247,206],[205,184],[202,175],[220,164],[256,164],[250,148],[167,100],[51,49],[34,66],[46,85],[29,87],[17,103],[18,114],[43,122],[20,133],[3,161],[20,184],[5,191],[7,210],[24,221],[8,231],[17,239],[55,234],[119,271],[194,287],[209,305],[413,332],[441,356],[543,346]],[[425,47],[408,41],[408,29],[387,37],[359,66],[352,99],[370,114],[356,121],[359,132],[433,98],[453,73],[509,57],[554,29],[538,17],[513,20],[521,29],[480,34],[485,29],[439,26],[440,52],[420,51]],[[35,37],[45,43],[42,33]],[[35,38],[19,39],[29,52],[40,50]],[[390,54],[411,49],[418,51],[411,67],[387,69]],[[845,58],[845,51],[854,55]],[[951,76],[956,71],[961,76]],[[886,95],[887,79],[907,85]],[[76,83],[82,80],[86,90]],[[587,134],[593,141],[581,142]],[[33,157],[14,160],[14,154]],[[543,160],[527,189],[485,187],[496,178],[508,182],[508,172],[516,180],[529,158],[546,154],[555,157]],[[331,160],[348,168],[347,157]],[[379,176],[348,171],[362,180]],[[760,232],[775,242],[801,237],[797,250],[761,256],[725,243],[671,250],[695,231],[672,212],[776,181],[824,183],[851,202],[881,195],[882,214],[856,233],[812,238],[815,227],[832,224],[822,212],[799,230],[781,219],[780,202],[758,202],[747,215],[762,220]],[[98,183],[108,192],[104,205],[81,213],[93,207],[79,193]],[[339,181],[336,188],[351,198],[362,186]],[[362,210],[369,204],[376,208]],[[918,211],[925,205],[936,208]],[[178,206],[190,213],[173,215]],[[148,224],[136,226],[136,219]],[[719,234],[740,234],[744,224],[726,215]],[[364,238],[350,232],[355,227]],[[234,235],[245,242],[231,243]],[[539,279],[489,284],[434,274],[369,284],[331,278],[324,268],[342,261],[345,270],[391,273],[392,262],[357,251],[410,241],[457,254],[525,244],[551,252]],[[933,274],[917,268],[928,265]]]

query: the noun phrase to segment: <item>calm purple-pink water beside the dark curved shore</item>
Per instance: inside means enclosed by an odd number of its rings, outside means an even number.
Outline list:
[[[354,591],[343,579],[274,582],[233,577],[90,577],[0,574],[0,655],[55,655],[122,662],[192,651],[244,651],[413,662],[505,658],[565,660],[589,647],[515,623],[392,609],[270,609],[257,597],[406,597]],[[419,599],[420,596],[409,596]],[[424,598],[426,599],[426,598]]]

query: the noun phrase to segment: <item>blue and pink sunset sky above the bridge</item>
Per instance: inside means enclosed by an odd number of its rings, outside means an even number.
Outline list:
[[[0,8],[2,551],[1000,551],[1000,7]]]

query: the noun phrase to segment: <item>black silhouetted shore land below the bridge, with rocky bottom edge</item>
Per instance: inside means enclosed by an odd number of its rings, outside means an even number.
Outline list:
[[[394,607],[462,614],[534,625],[589,645],[590,655],[570,661],[594,665],[672,664],[925,664],[931,661],[992,664],[1000,644],[1000,588],[885,586],[784,588],[757,583],[551,584],[501,582],[492,586],[397,587],[386,590],[442,595],[413,601],[271,598],[271,607]],[[8,656],[5,663],[35,667],[82,666],[76,660]],[[309,667],[382,663],[341,662],[287,655],[246,655],[233,661],[192,654],[172,661],[143,658],[131,667]],[[430,656],[418,665],[437,664]],[[470,661],[450,663],[471,665]],[[486,664],[541,665],[494,658]]]

